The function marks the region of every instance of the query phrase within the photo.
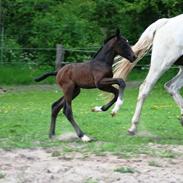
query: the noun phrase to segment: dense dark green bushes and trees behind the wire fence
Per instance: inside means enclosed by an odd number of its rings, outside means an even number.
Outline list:
[[[116,27],[132,44],[149,24],[181,14],[182,9],[182,0],[3,0],[4,46],[54,48],[61,43],[65,48],[96,50]],[[19,56],[19,52],[23,52],[23,56]],[[53,63],[55,56],[54,51],[10,50],[10,53],[4,52],[4,59],[14,62],[18,57],[18,62],[25,61],[24,55],[27,58],[29,54],[34,54],[29,60],[47,64]],[[76,62],[89,57],[69,52],[65,59]]]

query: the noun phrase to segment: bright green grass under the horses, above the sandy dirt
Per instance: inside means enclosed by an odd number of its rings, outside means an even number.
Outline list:
[[[179,109],[162,86],[155,87],[144,105],[138,135],[131,137],[127,134],[137,93],[137,88],[126,89],[124,105],[112,118],[111,110],[91,112],[92,107],[109,100],[106,95],[98,90],[83,90],[73,102],[74,116],[82,130],[96,141],[82,143],[79,140],[62,142],[48,139],[50,106],[61,95],[55,85],[51,89],[30,85],[9,90],[0,95],[0,148],[59,146],[65,152],[74,150],[103,155],[106,151],[145,153],[149,143],[183,144],[183,128],[177,119]],[[60,113],[56,133],[59,136],[68,132],[74,130]]]

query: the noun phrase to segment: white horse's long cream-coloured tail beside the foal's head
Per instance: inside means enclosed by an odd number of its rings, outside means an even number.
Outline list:
[[[168,22],[168,19],[159,19],[151,24],[141,35],[137,43],[132,46],[132,50],[137,56],[135,62],[130,63],[127,59],[117,57],[119,60],[114,64],[114,78],[123,78],[126,80],[129,72],[137,64],[137,62],[144,57],[144,55],[151,49],[153,39],[156,31]]]

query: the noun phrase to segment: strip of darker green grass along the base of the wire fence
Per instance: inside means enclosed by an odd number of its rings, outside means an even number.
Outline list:
[[[53,71],[53,67],[49,66],[36,66],[23,64],[0,64],[0,86],[1,85],[27,85],[34,84],[34,78],[49,71]],[[134,68],[133,72],[129,74],[128,80],[141,81],[145,78],[148,73],[148,69]],[[159,83],[171,79],[177,73],[177,69],[171,69],[165,73],[164,77]],[[50,77],[42,83],[55,83],[55,78]]]

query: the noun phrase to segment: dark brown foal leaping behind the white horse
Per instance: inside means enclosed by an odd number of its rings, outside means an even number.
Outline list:
[[[57,83],[64,94],[63,97],[52,104],[50,138],[55,135],[56,118],[59,111],[63,108],[63,113],[71,122],[77,136],[82,141],[91,140],[83,133],[74,120],[72,100],[79,95],[80,88],[98,88],[114,94],[113,99],[109,103],[100,107],[101,111],[106,111],[116,102],[118,95],[120,95],[119,90],[123,92],[125,88],[125,82],[122,79],[112,78],[112,65],[116,55],[121,55],[131,62],[136,59],[127,40],[120,35],[119,31],[105,42],[104,46],[90,62],[68,64],[58,72],[47,73],[36,79],[36,81],[41,81],[50,75],[56,74]],[[113,84],[119,85],[119,90],[113,87]]]

